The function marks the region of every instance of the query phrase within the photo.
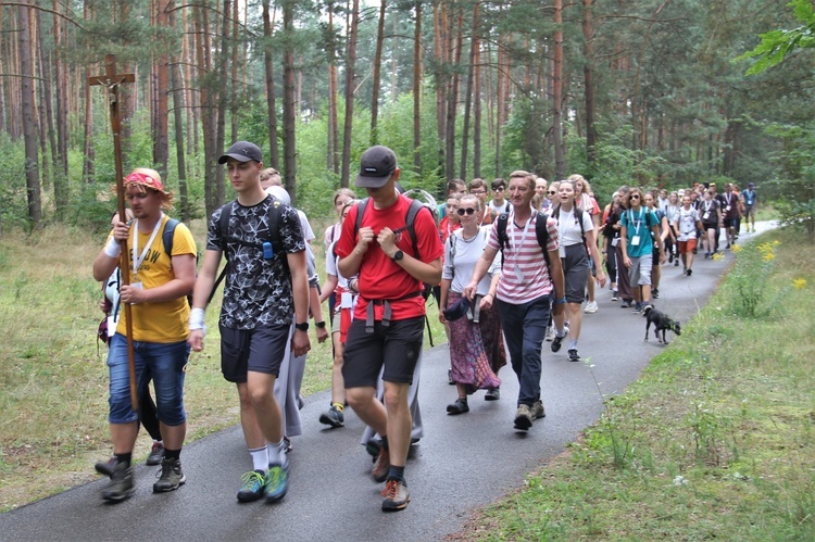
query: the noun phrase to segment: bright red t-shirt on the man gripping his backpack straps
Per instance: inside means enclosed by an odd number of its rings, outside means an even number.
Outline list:
[[[387,209],[375,209],[374,202],[368,200],[361,227],[373,228],[374,238],[385,227],[393,231],[404,228],[410,206],[411,200],[404,196],[400,196],[397,202]],[[354,227],[359,209],[359,205],[354,205],[342,223],[342,234],[339,241],[337,241],[336,249],[337,255],[341,259],[347,257],[356,245]],[[418,248],[419,260],[423,262],[432,262],[441,257],[444,249],[439,241],[439,232],[436,229],[436,223],[430,213],[421,211],[416,214],[413,229],[416,231],[416,245]],[[416,254],[413,252],[413,240],[406,229],[397,235],[397,247],[405,254],[416,257]],[[421,290],[422,283],[398,263],[391,261],[379,248],[376,240],[374,240],[368,244],[368,250],[362,257],[362,265],[360,266],[360,297],[356,300],[354,318],[365,319],[369,300],[396,300]],[[425,314],[425,300],[421,295],[417,295],[402,301],[391,301],[390,307],[391,320],[413,318]],[[380,320],[384,307],[377,305],[374,311],[375,319]]]

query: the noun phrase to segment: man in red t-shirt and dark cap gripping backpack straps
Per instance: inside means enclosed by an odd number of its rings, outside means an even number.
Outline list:
[[[439,283],[443,251],[432,215],[422,210],[413,226],[414,253],[405,228],[411,200],[397,193],[399,173],[397,156],[387,147],[362,154],[355,184],[369,198],[359,230],[360,205],[349,212],[336,248],[340,274],[360,276],[342,376],[348,403],[383,436],[373,469],[377,481],[386,481],[383,511],[403,509],[411,500],[404,481],[412,425],[408,392],[424,339],[422,282]],[[376,399],[383,367],[385,404]]]

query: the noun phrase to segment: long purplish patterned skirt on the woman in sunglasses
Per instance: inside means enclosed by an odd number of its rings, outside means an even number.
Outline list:
[[[453,306],[460,299],[461,293],[450,292],[448,306]],[[465,316],[449,323],[451,376],[453,382],[465,385],[467,393],[501,386],[496,370],[506,365],[498,310],[492,306],[489,311],[481,311],[478,319],[480,322],[476,324]],[[486,348],[485,336],[490,339],[489,349]],[[490,363],[488,352],[494,356],[493,363]],[[493,369],[494,365],[497,368]]]

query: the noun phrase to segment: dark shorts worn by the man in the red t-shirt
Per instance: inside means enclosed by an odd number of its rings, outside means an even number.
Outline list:
[[[377,320],[373,333],[365,331],[364,319],[353,320],[342,362],[346,388],[376,388],[383,366],[386,382],[413,383],[424,333],[424,316],[391,320],[389,326]]]

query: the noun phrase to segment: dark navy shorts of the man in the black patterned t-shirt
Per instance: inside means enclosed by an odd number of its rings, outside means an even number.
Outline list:
[[[254,329],[221,329],[221,371],[229,382],[243,383],[247,373],[280,373],[280,365],[289,350],[290,324]]]

